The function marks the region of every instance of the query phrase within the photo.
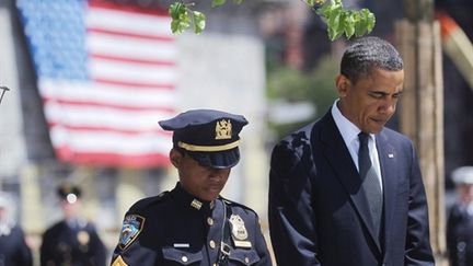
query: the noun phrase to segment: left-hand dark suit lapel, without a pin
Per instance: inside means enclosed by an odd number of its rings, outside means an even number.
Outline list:
[[[345,187],[345,190],[348,193],[356,211],[368,229],[371,239],[378,246],[379,251],[381,251],[379,240],[374,233],[368,200],[361,189],[361,178],[356,170],[345,141],[335,125],[332,114],[328,112],[321,123],[324,123],[325,125],[321,131],[321,141],[325,143],[323,152],[335,171],[336,176]]]

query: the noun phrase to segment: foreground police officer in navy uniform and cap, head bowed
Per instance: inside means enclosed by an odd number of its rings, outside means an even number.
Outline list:
[[[128,210],[112,265],[272,265],[257,215],[219,196],[239,162],[246,119],[194,109],[159,124],[173,131],[180,182]]]

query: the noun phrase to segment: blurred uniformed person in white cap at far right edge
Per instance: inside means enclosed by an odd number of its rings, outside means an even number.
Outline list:
[[[450,266],[473,265],[473,166],[452,172],[458,201],[447,220],[447,248]]]

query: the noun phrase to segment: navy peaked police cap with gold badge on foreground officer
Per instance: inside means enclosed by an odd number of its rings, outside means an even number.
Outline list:
[[[184,150],[199,164],[229,169],[240,160],[239,134],[247,120],[215,109],[192,109],[174,118],[159,122],[164,130],[172,130],[174,147]]]

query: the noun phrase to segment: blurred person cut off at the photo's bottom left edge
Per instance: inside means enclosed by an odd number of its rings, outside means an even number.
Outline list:
[[[0,192],[0,266],[32,266],[32,253],[14,219],[13,201]]]

